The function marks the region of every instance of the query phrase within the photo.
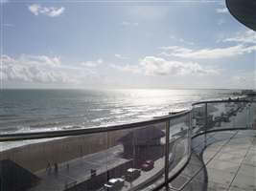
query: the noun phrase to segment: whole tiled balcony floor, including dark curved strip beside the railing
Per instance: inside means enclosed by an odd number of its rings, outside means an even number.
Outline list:
[[[202,137],[194,140],[198,155],[192,155],[170,190],[256,191],[256,131],[208,134],[206,148]]]

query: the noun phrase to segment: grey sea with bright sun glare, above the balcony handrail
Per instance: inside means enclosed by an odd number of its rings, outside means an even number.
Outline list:
[[[190,109],[236,90],[2,90],[0,133],[130,123]]]

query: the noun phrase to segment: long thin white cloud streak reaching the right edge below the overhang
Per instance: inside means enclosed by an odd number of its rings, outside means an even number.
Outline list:
[[[226,48],[214,48],[214,49],[201,49],[201,50],[192,50],[178,46],[171,47],[162,47],[160,48],[164,52],[160,55],[165,56],[175,56],[182,58],[192,58],[192,59],[218,59],[224,57],[231,57],[242,55],[244,53],[252,53],[256,50],[256,45],[253,46],[244,46],[236,45]]]

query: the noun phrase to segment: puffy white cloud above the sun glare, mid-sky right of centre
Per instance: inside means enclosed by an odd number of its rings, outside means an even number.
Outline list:
[[[140,60],[138,65],[117,66],[111,65],[112,68],[131,72],[134,74],[145,75],[186,75],[186,74],[218,74],[213,69],[205,69],[196,62],[179,62],[166,60],[161,57],[146,56]]]

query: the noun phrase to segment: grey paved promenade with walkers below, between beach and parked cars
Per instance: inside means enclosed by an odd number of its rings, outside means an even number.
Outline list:
[[[128,159],[122,159],[119,154],[123,153],[123,146],[117,145],[103,152],[85,156],[80,159],[73,159],[58,167],[58,173],[52,168],[51,172],[41,171],[36,174],[41,181],[31,191],[59,191],[64,190],[67,184],[76,184],[90,179],[90,170],[97,169],[97,174],[114,168]]]

